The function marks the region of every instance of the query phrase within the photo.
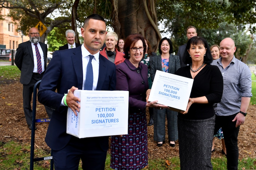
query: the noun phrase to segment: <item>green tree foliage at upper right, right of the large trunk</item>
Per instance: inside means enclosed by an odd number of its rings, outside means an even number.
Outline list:
[[[210,46],[219,44],[226,37],[233,38],[237,47],[235,55],[240,58],[246,55],[253,42],[245,33],[245,25],[256,22],[255,6],[252,1],[241,3],[240,0],[159,0],[157,17],[165,25],[162,32],[171,33],[176,53],[178,46],[187,43],[186,29],[193,25],[197,28],[197,35],[204,37]],[[253,28],[250,26],[251,31]]]

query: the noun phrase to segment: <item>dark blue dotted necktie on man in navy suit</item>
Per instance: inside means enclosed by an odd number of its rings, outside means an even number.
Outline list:
[[[92,90],[92,85],[93,85],[93,69],[92,69],[92,64],[91,60],[93,59],[93,55],[89,55],[90,59],[87,65],[86,69],[86,78],[85,78],[85,83],[84,83],[84,90]]]

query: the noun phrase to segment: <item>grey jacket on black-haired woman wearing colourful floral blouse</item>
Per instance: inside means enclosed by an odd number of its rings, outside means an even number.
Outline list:
[[[151,70],[150,70],[151,80],[154,81],[156,71],[157,70],[163,71],[161,54],[159,56],[152,58],[150,67],[151,67]],[[180,67],[181,67],[181,64],[180,64],[179,56],[170,54],[168,73],[174,74]]]

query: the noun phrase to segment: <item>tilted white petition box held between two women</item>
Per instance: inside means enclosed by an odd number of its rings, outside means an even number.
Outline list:
[[[186,111],[194,79],[157,70],[148,101]]]

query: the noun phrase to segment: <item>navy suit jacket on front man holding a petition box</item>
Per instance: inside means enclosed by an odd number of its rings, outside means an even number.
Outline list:
[[[54,110],[45,137],[45,142],[53,150],[64,148],[72,137],[66,133],[68,107],[61,106],[61,100],[72,86],[82,90],[82,67],[81,47],[55,51],[42,78],[38,101]],[[99,54],[99,79],[96,90],[115,89],[116,66]],[[96,142],[103,150],[108,150],[108,137],[94,137],[88,141],[88,145],[90,142]]]

